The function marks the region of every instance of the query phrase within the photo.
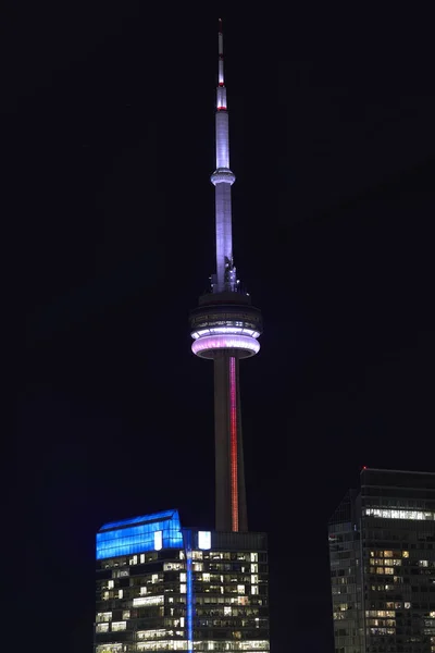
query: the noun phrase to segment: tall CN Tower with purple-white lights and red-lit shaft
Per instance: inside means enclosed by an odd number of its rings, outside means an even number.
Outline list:
[[[233,257],[232,186],[228,109],[224,78],[222,21],[219,21],[219,64],[215,112],[216,272],[210,291],[190,312],[191,349],[213,360],[215,439],[215,520],[217,531],[247,531],[244,448],[241,439],[239,361],[256,355],[262,318],[241,289]]]

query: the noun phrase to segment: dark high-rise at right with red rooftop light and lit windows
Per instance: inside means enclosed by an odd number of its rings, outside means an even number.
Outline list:
[[[434,653],[435,473],[360,481],[328,526],[335,653]]]

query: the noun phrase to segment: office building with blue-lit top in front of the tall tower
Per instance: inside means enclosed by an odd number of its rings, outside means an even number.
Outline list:
[[[263,533],[182,528],[177,510],[97,533],[95,653],[269,651]]]

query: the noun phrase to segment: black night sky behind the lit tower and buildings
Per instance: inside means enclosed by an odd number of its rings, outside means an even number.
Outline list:
[[[214,271],[219,16],[116,4],[1,27],[25,326],[7,497],[47,652],[91,651],[103,521],[213,522],[212,366],[187,317]],[[246,10],[222,17],[235,257],[265,322],[241,370],[250,526],[270,533],[273,651],[332,652],[330,515],[362,465],[434,470],[432,22]]]

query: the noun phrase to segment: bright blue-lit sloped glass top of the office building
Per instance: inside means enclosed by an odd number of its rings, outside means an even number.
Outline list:
[[[166,510],[105,523],[97,533],[97,559],[156,550],[154,533],[162,532],[163,549],[183,549],[177,510]]]

